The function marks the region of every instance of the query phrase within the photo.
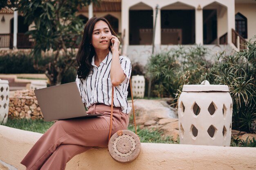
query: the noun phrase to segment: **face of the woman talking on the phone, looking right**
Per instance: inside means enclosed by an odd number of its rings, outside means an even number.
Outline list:
[[[108,49],[110,46],[110,38],[112,34],[108,27],[108,24],[102,20],[99,20],[94,25],[92,32],[92,46],[95,50]]]

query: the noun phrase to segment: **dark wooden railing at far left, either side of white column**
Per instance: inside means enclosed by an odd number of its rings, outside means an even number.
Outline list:
[[[25,33],[17,34],[17,48],[26,49],[33,46],[33,40],[29,39],[29,35]],[[0,34],[0,48],[13,48],[13,34]]]

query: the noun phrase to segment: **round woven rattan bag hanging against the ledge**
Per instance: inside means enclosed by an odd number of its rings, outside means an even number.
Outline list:
[[[139,156],[140,148],[139,137],[130,130],[117,131],[108,143],[111,157],[120,163],[134,161]]]

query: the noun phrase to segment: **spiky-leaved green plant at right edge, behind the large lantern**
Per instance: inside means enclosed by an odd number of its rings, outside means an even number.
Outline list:
[[[256,38],[256,37],[255,37]],[[229,56],[220,53],[208,76],[215,84],[229,86],[233,100],[233,128],[252,132],[256,120],[256,41]]]

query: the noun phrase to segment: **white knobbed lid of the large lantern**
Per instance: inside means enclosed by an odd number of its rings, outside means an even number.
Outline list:
[[[227,85],[210,85],[209,81],[202,81],[201,85],[183,85],[182,92],[229,92]]]

